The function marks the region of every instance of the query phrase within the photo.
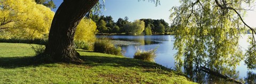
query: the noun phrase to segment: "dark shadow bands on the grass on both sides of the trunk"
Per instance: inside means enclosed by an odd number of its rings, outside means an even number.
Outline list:
[[[35,56],[25,56],[25,57],[0,57],[0,68],[20,68],[26,66],[38,66],[47,63],[35,62]],[[163,69],[162,65],[156,64],[154,62],[146,62],[141,60],[135,60],[133,58],[125,57],[107,57],[107,56],[81,56],[84,60],[83,63],[76,63],[78,65],[89,65],[89,66],[115,66],[115,67],[142,67],[145,69]],[[49,64],[49,63],[48,63]]]

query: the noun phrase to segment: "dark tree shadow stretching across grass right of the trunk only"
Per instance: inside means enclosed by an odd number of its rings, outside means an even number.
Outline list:
[[[106,56],[82,56],[85,65],[90,66],[98,66],[98,65],[107,65],[107,66],[123,66],[123,67],[142,67],[142,68],[161,68],[166,69],[162,65],[153,63],[153,62],[146,62],[141,60],[135,60],[133,58],[125,58],[125,57],[106,57]]]

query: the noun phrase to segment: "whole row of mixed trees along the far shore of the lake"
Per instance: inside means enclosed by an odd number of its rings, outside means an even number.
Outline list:
[[[97,23],[98,33],[126,33],[132,35],[145,35],[164,34],[172,32],[169,24],[163,19],[140,19],[134,22],[128,21],[129,18],[119,18],[114,22],[112,16],[92,15],[91,19]],[[142,27],[143,26],[143,27]]]

